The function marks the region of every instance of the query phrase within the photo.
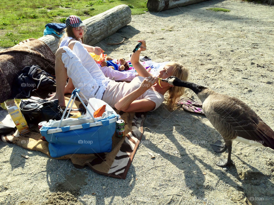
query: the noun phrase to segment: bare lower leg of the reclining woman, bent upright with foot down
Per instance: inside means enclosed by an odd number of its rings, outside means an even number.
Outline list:
[[[58,48],[55,56],[55,76],[56,76],[56,93],[55,95],[48,98],[48,100],[59,100],[59,105],[61,107],[65,106],[65,86],[68,79],[67,69],[62,62],[62,53],[66,51],[63,48]],[[73,85],[73,84],[72,84]]]

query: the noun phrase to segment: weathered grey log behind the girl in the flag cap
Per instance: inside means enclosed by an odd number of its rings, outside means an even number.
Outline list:
[[[87,29],[84,43],[88,45],[96,44],[129,24],[130,21],[131,10],[127,5],[119,5],[94,17],[85,19],[83,23],[86,24]],[[58,36],[50,34],[38,39],[45,42],[53,53],[58,49]]]

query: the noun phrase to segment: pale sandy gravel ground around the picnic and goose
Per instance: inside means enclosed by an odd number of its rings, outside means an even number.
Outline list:
[[[231,12],[206,10],[211,7]],[[273,9],[219,0],[146,13],[132,16],[128,26],[97,46],[128,59],[136,41],[144,39],[148,49],[143,55],[183,63],[190,81],[243,100],[274,129]],[[124,44],[106,46],[122,38]],[[197,99],[190,90],[186,96]],[[207,118],[182,108],[170,112],[163,104],[148,113],[125,180],[0,142],[0,203],[274,204],[274,151],[233,143],[235,166],[224,171],[215,163],[227,153],[212,150],[216,140],[221,136]],[[23,153],[30,158],[20,157]]]

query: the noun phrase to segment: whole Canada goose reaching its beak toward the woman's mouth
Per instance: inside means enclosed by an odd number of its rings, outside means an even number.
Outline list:
[[[203,111],[207,119],[225,141],[225,146],[221,147],[219,142],[219,144],[213,145],[213,149],[216,152],[223,152],[226,148],[228,149],[227,159],[221,159],[216,164],[219,167],[234,164],[231,160],[233,140],[248,145],[265,146],[274,149],[273,130],[243,101],[217,93],[195,83],[182,81],[174,76],[161,79],[161,81],[168,82],[174,86],[189,88],[202,101]]]

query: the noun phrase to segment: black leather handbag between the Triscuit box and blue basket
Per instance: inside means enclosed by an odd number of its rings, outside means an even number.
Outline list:
[[[49,101],[37,97],[22,99],[19,107],[28,124],[60,120],[64,113],[58,100]]]

